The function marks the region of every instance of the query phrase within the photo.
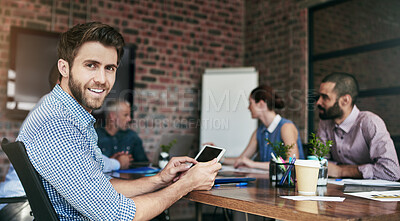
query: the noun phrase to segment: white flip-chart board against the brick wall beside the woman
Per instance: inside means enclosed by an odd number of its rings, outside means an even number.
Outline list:
[[[258,86],[253,67],[206,69],[203,75],[200,144],[226,148],[226,157],[246,148],[257,120],[251,119],[250,92]]]

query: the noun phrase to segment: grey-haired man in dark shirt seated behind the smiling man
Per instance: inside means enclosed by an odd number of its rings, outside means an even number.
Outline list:
[[[123,100],[112,100],[105,107],[106,125],[97,128],[98,146],[106,156],[130,154],[134,162],[147,162],[142,140],[129,129],[131,106]],[[132,158],[131,158],[132,160]]]

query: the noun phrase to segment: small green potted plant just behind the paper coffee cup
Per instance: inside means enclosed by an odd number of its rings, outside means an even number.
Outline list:
[[[333,141],[327,140],[323,142],[321,138],[317,137],[314,133],[311,133],[311,139],[308,141],[310,145],[310,152],[312,157],[308,159],[319,160],[321,167],[318,174],[318,185],[325,186],[328,182],[328,160],[325,157],[331,150]]]

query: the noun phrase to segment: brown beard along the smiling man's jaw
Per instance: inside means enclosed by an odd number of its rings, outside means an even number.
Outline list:
[[[97,110],[101,107],[101,105],[103,105],[105,96],[103,98],[98,98],[98,99],[96,98],[90,99],[89,97],[84,96],[85,87],[83,87],[83,85],[78,81],[75,81],[72,72],[70,74],[68,86],[71,90],[72,95],[75,97],[78,103],[80,103],[84,108]]]

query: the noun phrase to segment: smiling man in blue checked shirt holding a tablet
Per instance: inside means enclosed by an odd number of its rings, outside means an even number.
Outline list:
[[[31,112],[17,137],[60,220],[150,220],[190,191],[211,189],[221,168],[216,159],[175,157],[151,177],[122,180],[103,173],[91,112],[114,84],[123,46],[120,33],[98,22],[63,33],[61,83]]]

